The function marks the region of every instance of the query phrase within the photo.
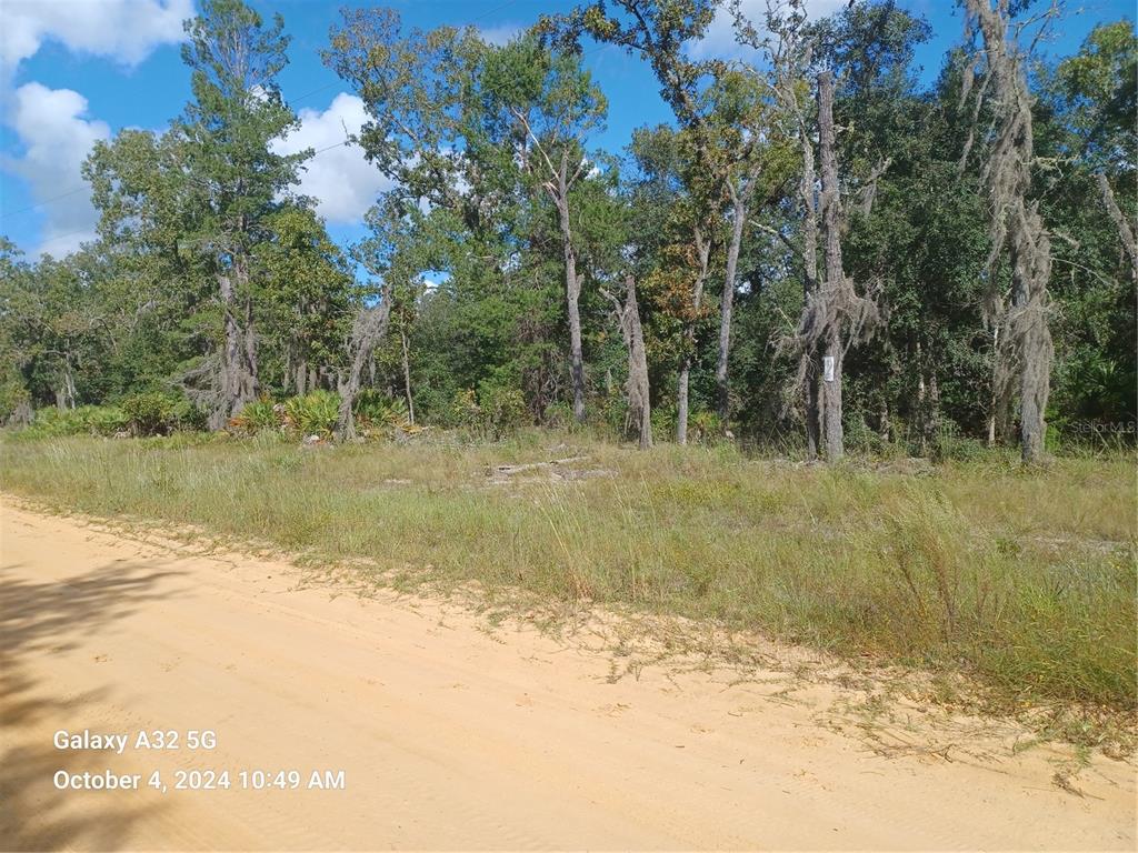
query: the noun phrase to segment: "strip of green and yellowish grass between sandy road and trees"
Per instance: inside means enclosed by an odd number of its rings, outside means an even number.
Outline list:
[[[963,671],[1008,703],[1136,707],[1133,459],[1042,471],[801,467],[732,448],[302,448],[279,440],[0,442],[0,488],[200,525],[325,561],[552,604],[717,620],[843,655]],[[586,455],[609,475],[492,485]]]

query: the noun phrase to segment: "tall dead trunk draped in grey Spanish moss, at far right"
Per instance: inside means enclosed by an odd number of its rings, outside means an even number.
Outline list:
[[[1008,36],[1007,3],[964,2],[983,36],[986,89],[990,82],[997,114],[996,139],[981,169],[991,206],[988,268],[995,267],[1005,247],[1012,265],[1012,300],[997,353],[997,396],[1007,398],[1012,389],[1019,391],[1021,454],[1024,462],[1034,463],[1044,453],[1054,349],[1047,324],[1052,247],[1038,204],[1026,198],[1034,158],[1031,94],[1020,48]]]

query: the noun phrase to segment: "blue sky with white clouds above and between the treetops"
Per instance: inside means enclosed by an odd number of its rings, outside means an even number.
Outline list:
[[[181,19],[196,0],[3,0],[0,7],[0,234],[24,251],[66,255],[92,234],[94,213],[80,164],[99,139],[123,127],[162,130],[189,98],[189,74],[179,56]],[[269,17],[279,11],[292,35],[290,65],[281,75],[286,99],[303,125],[284,149],[332,146],[363,121],[362,103],[320,61],[340,2],[254,0]],[[357,6],[382,3],[347,3]],[[471,24],[503,41],[541,13],[572,2],[536,0],[389,0],[409,26]],[[756,10],[765,0],[744,0]],[[808,0],[816,15],[843,0]],[[918,63],[935,78],[945,52],[962,33],[951,0],[899,0],[933,27]],[[1098,23],[1133,19],[1133,0],[1070,0],[1063,24],[1046,51],[1065,56]],[[717,20],[701,50],[731,55],[726,19]],[[669,119],[651,73],[615,48],[589,45],[586,65],[609,98],[609,121],[595,144],[620,150],[632,130]],[[331,148],[311,162],[303,191],[340,241],[357,239],[360,222],[384,182],[358,149]]]

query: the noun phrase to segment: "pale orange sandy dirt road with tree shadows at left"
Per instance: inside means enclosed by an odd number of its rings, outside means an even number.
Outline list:
[[[881,757],[772,687],[645,670],[427,602],[297,588],[10,500],[0,545],[0,846],[104,850],[1135,847],[1135,769],[1085,796],[1047,754]],[[174,730],[179,750],[134,750]],[[126,734],[57,750],[57,731]],[[213,730],[216,747],[185,747]],[[53,777],[140,775],[139,792]],[[176,790],[179,770],[231,787]],[[295,769],[295,790],[240,772]],[[146,787],[159,771],[166,793]],[[307,789],[343,770],[345,790]],[[192,780],[192,777],[187,777]],[[271,777],[270,777],[271,778]]]

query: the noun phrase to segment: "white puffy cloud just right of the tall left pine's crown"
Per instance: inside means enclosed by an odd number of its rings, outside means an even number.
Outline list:
[[[296,154],[305,148],[320,151],[300,175],[300,192],[318,200],[316,212],[331,223],[353,224],[376,202],[391,182],[363,157],[358,146],[336,146],[358,133],[368,114],[363,101],[340,92],[321,113],[302,109],[300,127],[273,143],[278,154]],[[321,149],[328,149],[321,151]]]

